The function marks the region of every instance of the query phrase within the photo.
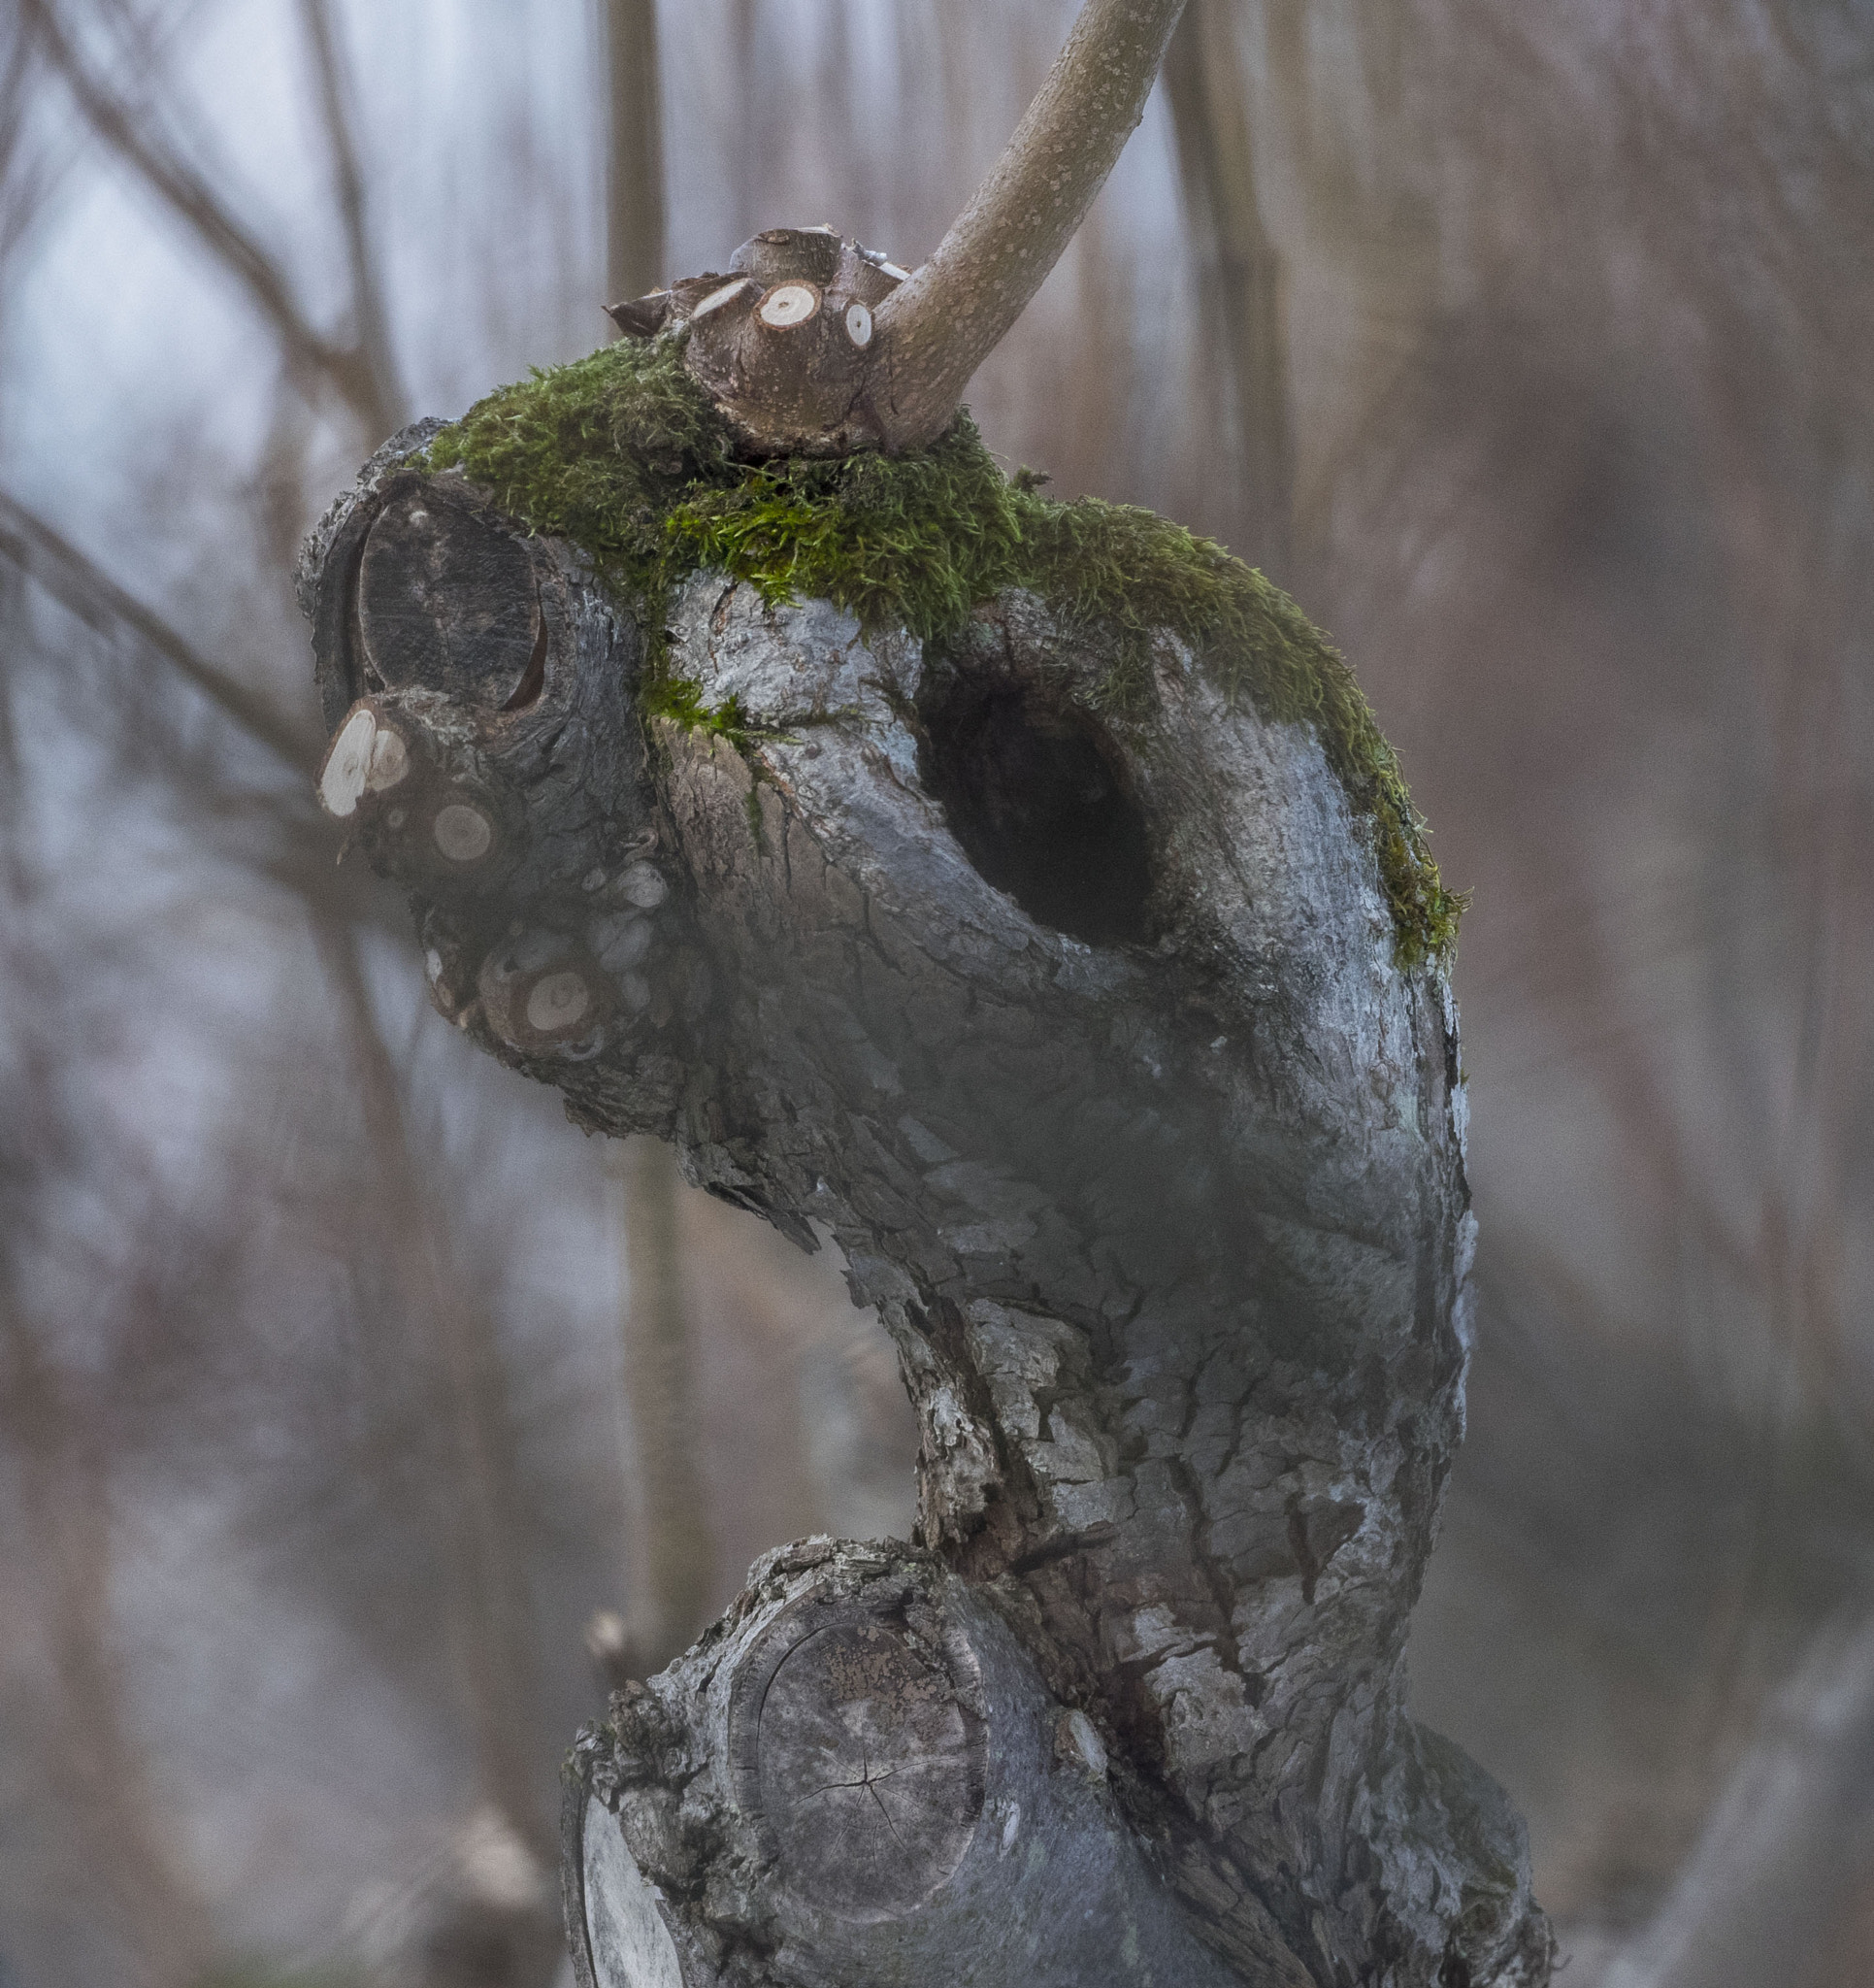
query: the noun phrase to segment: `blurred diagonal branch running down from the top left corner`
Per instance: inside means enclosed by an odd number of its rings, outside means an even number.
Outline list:
[[[209,181],[89,72],[50,0],[22,4],[28,24],[91,129],[240,282],[254,308],[272,324],[286,356],[328,382],[374,433],[384,433],[388,423],[366,354],[356,346],[338,346],[314,330],[274,256],[234,219]]]

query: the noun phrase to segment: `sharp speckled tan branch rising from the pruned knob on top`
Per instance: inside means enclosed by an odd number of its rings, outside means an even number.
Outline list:
[[[1184,0],[1087,0],[936,254],[878,306],[886,445],[934,441],[1061,258],[1145,115]]]

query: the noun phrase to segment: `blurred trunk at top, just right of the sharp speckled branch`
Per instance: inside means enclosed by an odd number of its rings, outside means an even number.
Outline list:
[[[1190,0],[1165,58],[1202,348],[1236,421],[1236,479],[1222,537],[1284,586],[1294,569],[1294,431],[1282,256],[1262,225],[1256,147],[1232,16]]]

